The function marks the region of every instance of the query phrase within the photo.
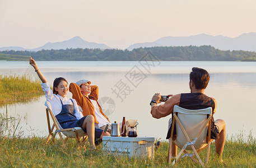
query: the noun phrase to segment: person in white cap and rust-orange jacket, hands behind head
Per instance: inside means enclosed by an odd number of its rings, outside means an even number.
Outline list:
[[[69,91],[72,92],[72,98],[77,101],[78,107],[80,106],[79,109],[83,116],[94,116],[95,127],[104,129],[106,124],[110,125],[110,122],[97,101],[99,88],[96,85],[90,86],[90,84],[88,80],[70,83]]]

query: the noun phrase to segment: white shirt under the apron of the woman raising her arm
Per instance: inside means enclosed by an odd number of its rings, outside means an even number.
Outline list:
[[[54,115],[58,115],[62,110],[62,104],[60,100],[62,101],[63,105],[65,104],[73,105],[72,101],[68,99],[67,96],[62,97],[62,96],[53,94],[53,91],[50,89],[48,82],[41,83],[41,87],[43,88],[46,100],[49,101],[50,105],[52,106],[52,111]],[[83,114],[81,113],[81,111],[78,110],[78,105],[76,100],[75,99],[72,99],[72,100],[74,102],[75,116],[77,119],[81,119],[83,117]]]

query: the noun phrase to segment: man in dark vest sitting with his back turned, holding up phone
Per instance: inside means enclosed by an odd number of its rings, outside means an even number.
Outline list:
[[[205,109],[208,107],[212,108],[212,114],[216,113],[216,100],[212,97],[204,95],[204,89],[207,87],[210,80],[209,73],[201,68],[192,68],[192,72],[189,74],[189,88],[190,93],[178,94],[178,95],[168,95],[169,100],[164,104],[157,106],[161,95],[156,93],[153,95],[151,100],[151,114],[153,118],[162,118],[164,116],[173,113],[174,105],[178,105],[181,108],[196,110]],[[226,139],[226,124],[224,120],[217,119],[216,121],[211,118],[211,138],[215,139],[216,155],[217,157],[222,157],[224,150],[224,144]],[[171,123],[169,123],[169,130],[166,139],[171,136]],[[177,155],[177,146],[172,144],[171,156]]]

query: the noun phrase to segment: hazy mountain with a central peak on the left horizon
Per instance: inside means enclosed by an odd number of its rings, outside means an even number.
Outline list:
[[[61,41],[61,42],[56,42],[56,43],[46,43],[43,46],[40,46],[39,48],[34,48],[34,49],[24,49],[21,47],[15,47],[15,46],[10,46],[10,47],[2,47],[0,48],[0,51],[3,50],[27,50],[27,51],[39,51],[39,50],[51,50],[51,49],[55,49],[55,50],[59,50],[59,49],[67,49],[67,48],[90,48],[90,49],[110,49],[109,46],[106,46],[105,44],[97,44],[97,43],[92,43],[92,42],[88,42],[83,40],[82,38],[76,36],[70,40],[66,40],[66,41]]]

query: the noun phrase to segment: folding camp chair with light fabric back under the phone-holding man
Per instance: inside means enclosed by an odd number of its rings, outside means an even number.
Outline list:
[[[174,158],[172,165],[179,159],[188,156],[198,164],[203,165],[198,153],[207,148],[206,162],[209,162],[210,144],[211,144],[211,114],[212,108],[200,110],[188,110],[174,106],[173,123],[171,126],[171,137],[169,139],[168,163],[171,162],[171,144],[174,142],[180,148],[179,154]],[[173,140],[174,124],[176,126],[176,139]],[[208,131],[208,136],[207,136]],[[207,139],[206,139],[207,138]],[[188,153],[186,150],[192,150]],[[185,155],[181,156],[182,153]],[[198,161],[193,156],[196,155]]]

